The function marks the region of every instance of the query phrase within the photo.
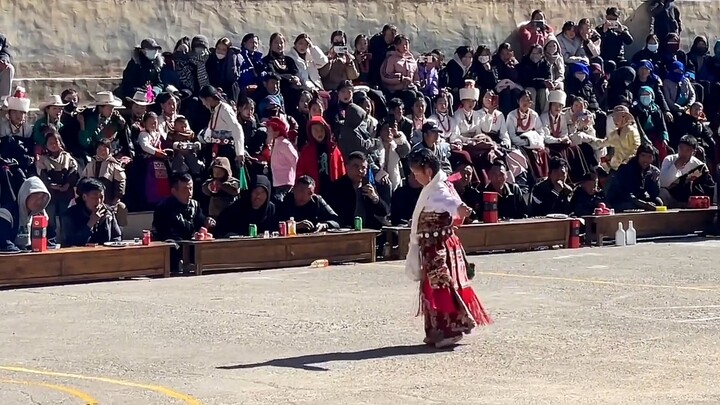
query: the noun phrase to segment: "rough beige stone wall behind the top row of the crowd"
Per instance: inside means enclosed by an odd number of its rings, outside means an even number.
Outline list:
[[[679,4],[686,40],[716,31],[711,16],[720,12],[719,1]],[[558,27],[582,17],[600,23],[607,7],[620,6],[640,42],[649,24],[640,0],[0,0],[0,5],[0,26],[15,46],[17,75],[24,78],[117,76],[144,37],[169,48],[183,35],[200,33],[211,41],[227,35],[239,43],[252,31],[267,49],[272,32],[291,38],[307,32],[324,46],[336,28],[354,38],[394,22],[411,37],[414,50],[440,48],[451,54],[461,44],[505,41],[535,8]]]

